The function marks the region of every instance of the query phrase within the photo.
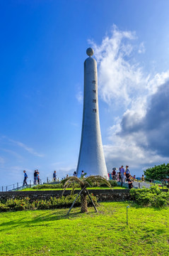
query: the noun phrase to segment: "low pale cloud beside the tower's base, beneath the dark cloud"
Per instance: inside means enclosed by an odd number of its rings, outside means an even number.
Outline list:
[[[144,139],[144,138],[143,138]],[[129,165],[132,173],[154,166],[158,162],[168,161],[167,157],[162,157],[156,154],[156,151],[145,150],[141,146],[137,146],[132,137],[118,138],[115,144],[108,144],[104,146],[105,159],[107,162],[107,169],[110,171],[112,167],[120,167],[121,165]]]

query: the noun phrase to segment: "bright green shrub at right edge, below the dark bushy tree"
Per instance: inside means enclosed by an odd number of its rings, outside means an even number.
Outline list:
[[[130,190],[132,199],[141,206],[164,207],[169,206],[169,192],[163,192],[158,186]]]

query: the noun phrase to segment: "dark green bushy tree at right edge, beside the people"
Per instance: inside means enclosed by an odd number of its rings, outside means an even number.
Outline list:
[[[146,176],[146,179],[153,179],[157,181],[164,178],[168,178],[169,164],[166,164],[166,165],[161,164],[161,165],[146,169],[146,171],[144,171],[144,175]]]

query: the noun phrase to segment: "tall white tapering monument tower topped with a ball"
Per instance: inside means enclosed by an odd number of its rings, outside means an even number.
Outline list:
[[[84,171],[87,176],[107,178],[98,112],[97,63],[91,58],[94,53],[92,48],[88,48],[86,53],[89,58],[84,62],[83,124],[77,175],[81,176],[81,171]]]

